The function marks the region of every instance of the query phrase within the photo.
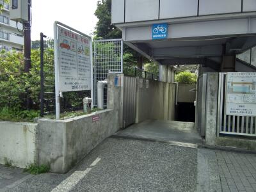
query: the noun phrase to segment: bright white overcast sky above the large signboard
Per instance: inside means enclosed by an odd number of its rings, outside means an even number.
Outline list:
[[[40,40],[40,33],[53,38],[55,20],[90,35],[97,23],[94,12],[97,0],[33,0],[31,40]]]

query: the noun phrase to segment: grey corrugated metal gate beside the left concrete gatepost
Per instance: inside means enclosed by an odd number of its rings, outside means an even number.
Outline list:
[[[136,77],[124,76],[121,93],[122,128],[135,123],[136,118]]]

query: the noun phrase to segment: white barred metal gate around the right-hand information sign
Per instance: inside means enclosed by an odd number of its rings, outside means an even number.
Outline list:
[[[256,136],[256,116],[226,115],[227,73],[220,73],[218,98],[218,125],[220,134]]]

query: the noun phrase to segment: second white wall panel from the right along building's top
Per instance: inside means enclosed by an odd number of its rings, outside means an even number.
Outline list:
[[[241,0],[200,0],[199,15],[241,12]]]

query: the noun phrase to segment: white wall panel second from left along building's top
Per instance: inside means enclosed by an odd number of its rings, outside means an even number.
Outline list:
[[[158,19],[159,0],[126,0],[125,22]]]

